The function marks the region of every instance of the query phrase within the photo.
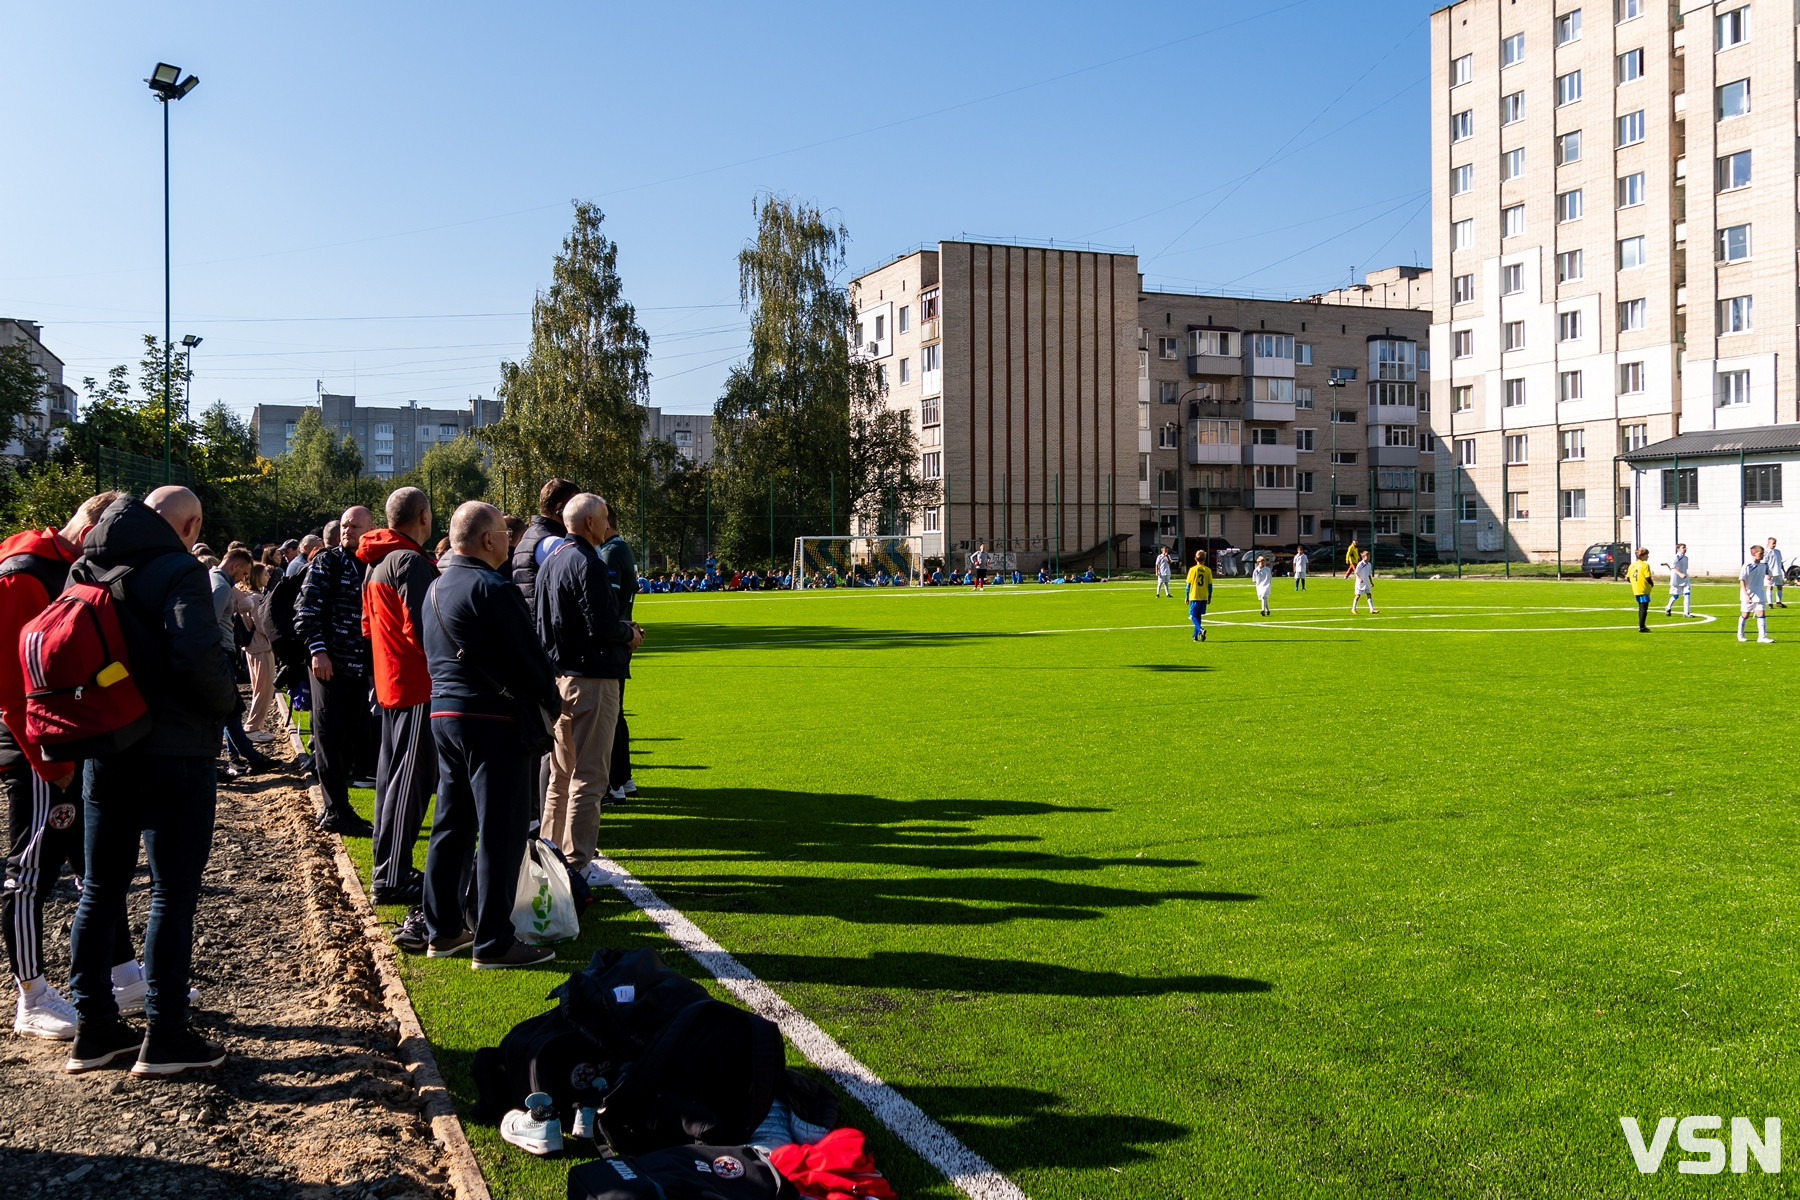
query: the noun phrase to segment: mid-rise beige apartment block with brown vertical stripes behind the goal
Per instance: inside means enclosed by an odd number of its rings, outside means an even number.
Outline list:
[[[1206,531],[1400,538],[1435,482],[1415,477],[1418,308],[1143,291],[1132,254],[967,241],[868,272],[853,297],[859,353],[943,484],[905,531],[954,565],[986,545],[1022,570],[1136,567]]]

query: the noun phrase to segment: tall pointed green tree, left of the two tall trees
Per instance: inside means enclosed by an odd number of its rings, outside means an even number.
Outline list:
[[[500,421],[477,430],[493,466],[535,495],[551,475],[619,491],[644,468],[650,335],[625,299],[605,214],[576,201],[574,228],[531,306],[531,347],[500,363]]]

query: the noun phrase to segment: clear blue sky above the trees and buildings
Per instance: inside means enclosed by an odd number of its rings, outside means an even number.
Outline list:
[[[833,209],[864,270],[959,236],[1130,248],[1152,286],[1303,295],[1429,263],[1426,0],[1076,4],[32,4],[5,18],[0,315],[70,383],[162,329],[194,396],[322,381],[493,394],[598,201],[655,353],[706,412],[742,354],[758,193]],[[1147,16],[1148,14],[1148,16]]]

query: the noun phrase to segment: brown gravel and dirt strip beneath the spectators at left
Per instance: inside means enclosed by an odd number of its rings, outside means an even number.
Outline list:
[[[266,747],[284,754],[281,743]],[[344,896],[311,801],[292,766],[220,779],[218,829],[200,898],[196,1027],[230,1058],[193,1079],[124,1070],[65,1076],[67,1042],[0,1029],[0,1195],[434,1196],[441,1146],[394,1049],[362,918]],[[149,871],[139,864],[133,941]],[[68,977],[74,882],[45,914],[49,977]],[[5,991],[13,999],[11,988]]]

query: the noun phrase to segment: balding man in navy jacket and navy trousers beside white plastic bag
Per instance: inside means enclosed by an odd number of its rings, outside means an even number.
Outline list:
[[[506,522],[470,500],[450,516],[450,554],[425,596],[425,666],[432,676],[437,811],[425,847],[425,954],[473,950],[475,970],[538,966],[556,957],[513,936],[513,894],[531,820],[529,765],[520,721],[556,712],[556,673],[518,588],[500,574]],[[463,894],[475,871],[475,930]]]

